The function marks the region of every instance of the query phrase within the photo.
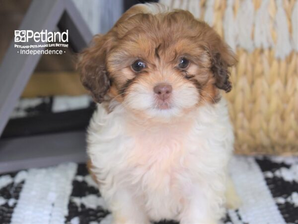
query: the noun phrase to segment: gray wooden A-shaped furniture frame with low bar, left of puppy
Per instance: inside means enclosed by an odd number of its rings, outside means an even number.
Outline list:
[[[69,30],[69,44],[78,52],[92,38],[72,0],[32,0],[19,30]],[[0,66],[0,134],[41,55],[21,55],[14,40]],[[84,132],[64,132],[0,140],[0,173],[64,161],[83,162]]]

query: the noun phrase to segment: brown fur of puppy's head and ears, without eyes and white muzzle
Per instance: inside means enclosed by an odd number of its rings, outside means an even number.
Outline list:
[[[183,70],[177,68],[182,56],[191,63]],[[138,59],[147,64],[142,73],[131,69]],[[107,34],[93,38],[80,54],[78,68],[83,85],[98,103],[122,102],[134,82],[155,85],[163,73],[172,74],[173,82],[191,82],[204,102],[216,103],[219,89],[231,90],[228,67],[235,62],[220,36],[190,12],[154,15],[139,4],[124,13]]]

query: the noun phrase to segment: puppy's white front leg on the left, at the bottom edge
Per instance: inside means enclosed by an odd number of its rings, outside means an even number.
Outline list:
[[[142,202],[126,190],[118,190],[110,200],[112,224],[150,224]]]

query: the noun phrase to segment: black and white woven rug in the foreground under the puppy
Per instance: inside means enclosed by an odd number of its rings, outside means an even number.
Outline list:
[[[298,157],[235,156],[230,173],[243,205],[227,210],[223,224],[298,224]],[[0,175],[0,224],[110,222],[85,164]]]

